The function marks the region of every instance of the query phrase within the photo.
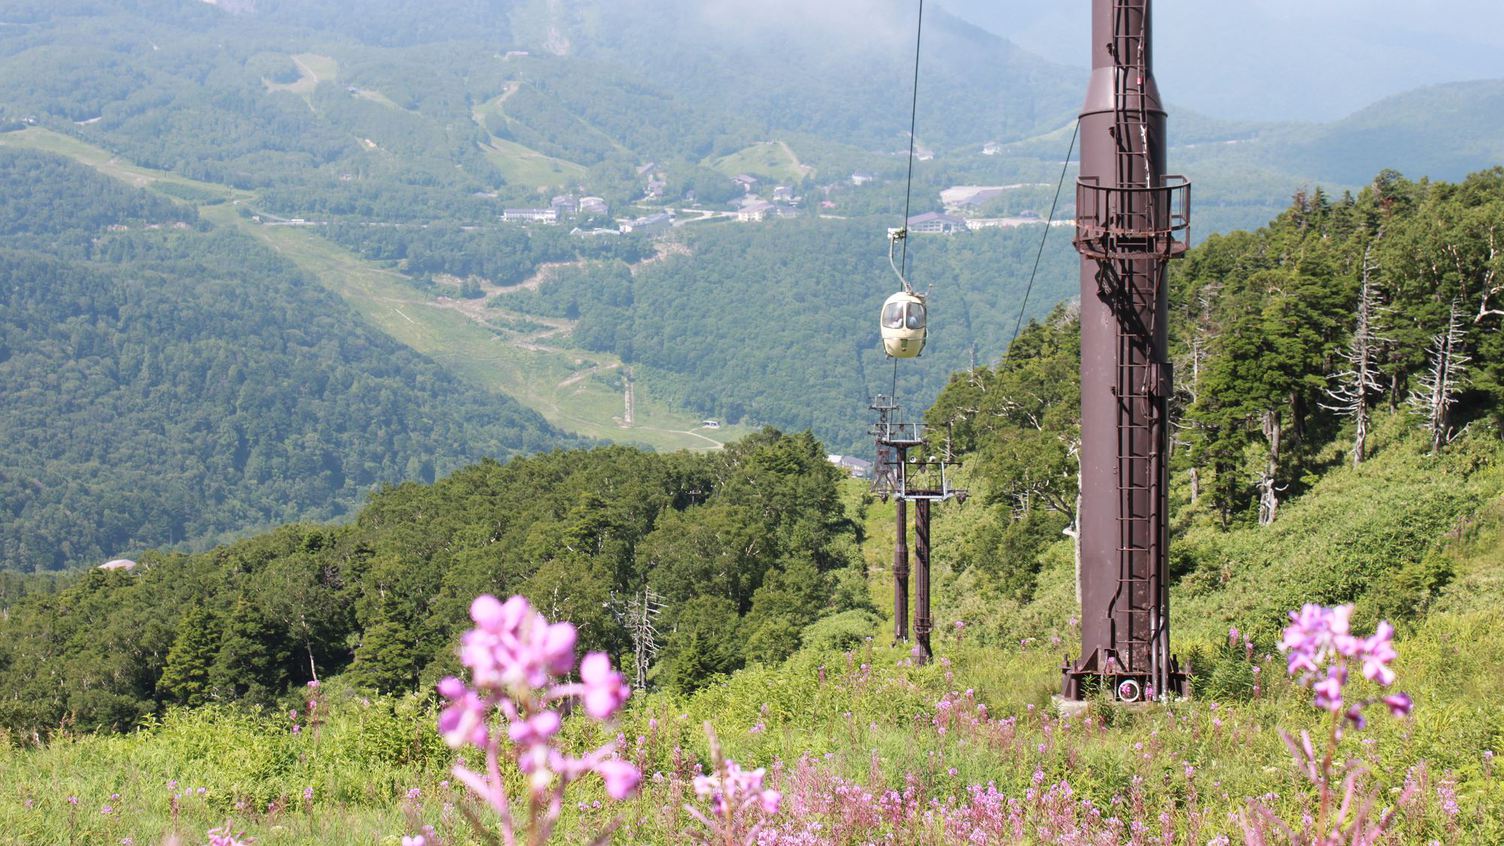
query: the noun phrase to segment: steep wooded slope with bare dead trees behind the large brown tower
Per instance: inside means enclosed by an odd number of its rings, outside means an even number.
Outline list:
[[[1182,635],[1236,626],[1268,640],[1304,602],[1357,602],[1364,625],[1403,626],[1442,596],[1465,598],[1454,581],[1490,584],[1478,574],[1498,560],[1480,533],[1496,531],[1504,494],[1489,245],[1501,212],[1498,169],[1456,185],[1388,173],[1357,197],[1298,197],[1259,232],[1211,239],[1172,275]],[[1372,322],[1358,357],[1364,298]],[[1450,364],[1435,343],[1448,325]],[[1075,315],[1059,310],[1003,363],[954,376],[928,412],[954,426],[985,486],[988,506],[966,518],[949,555],[972,604],[958,614],[1000,625],[1000,641],[1030,637],[1041,608],[1071,604],[1059,533],[1075,519],[1077,337]],[[1354,394],[1343,385],[1360,363],[1372,381]],[[1438,369],[1444,403],[1426,387]],[[1018,616],[987,613],[993,601]]]

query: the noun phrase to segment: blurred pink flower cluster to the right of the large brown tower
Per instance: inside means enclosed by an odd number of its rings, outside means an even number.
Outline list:
[[[1346,701],[1343,689],[1349,667],[1361,664],[1364,679],[1387,688],[1394,683],[1390,662],[1399,653],[1394,652],[1394,626],[1381,622],[1370,637],[1361,638],[1352,634],[1351,620],[1352,605],[1324,608],[1310,604],[1290,611],[1290,625],[1280,640],[1280,652],[1289,658],[1290,674],[1298,676],[1316,694],[1316,708],[1331,714],[1346,709],[1348,720],[1361,729],[1363,709],[1375,700]],[[1409,714],[1414,706],[1403,692],[1385,695],[1384,704],[1396,717]]]

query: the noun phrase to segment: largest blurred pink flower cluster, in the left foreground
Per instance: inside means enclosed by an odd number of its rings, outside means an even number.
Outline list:
[[[504,744],[487,727],[493,712],[507,721],[505,753],[528,778],[529,843],[543,843],[558,822],[566,787],[594,772],[614,799],[630,796],[642,774],[617,757],[606,744],[584,757],[567,756],[553,739],[562,726],[558,706],[578,701],[585,714],[606,721],[632,689],[611,659],[593,652],[575,671],[576,631],[570,623],[549,623],[522,596],[507,602],[484,595],[471,604],[475,628],[460,640],[460,662],[471,671],[472,686],[453,676],[439,682],[448,704],[439,714],[439,733],[453,748],[472,745],[486,753],[486,771],[454,766],[454,777],[489,804],[501,819],[505,843],[516,841],[522,826],[511,817],[511,802],[501,774]]]

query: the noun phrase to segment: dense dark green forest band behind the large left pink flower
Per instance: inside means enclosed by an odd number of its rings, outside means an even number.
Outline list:
[[[385,488],[349,525],[153,552],[57,592],[0,583],[0,727],[128,729],[337,673],[405,692],[454,670],[483,592],[523,593],[584,647],[635,655],[627,610],[651,590],[660,637],[642,670],[693,689],[782,659],[821,616],[869,610],[838,477],[814,438],[773,431],[711,455],[553,452]]]

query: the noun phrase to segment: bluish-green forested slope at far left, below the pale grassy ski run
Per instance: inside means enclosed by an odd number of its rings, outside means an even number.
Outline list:
[[[331,519],[569,443],[190,206],[9,149],[0,194],[3,568]]]

